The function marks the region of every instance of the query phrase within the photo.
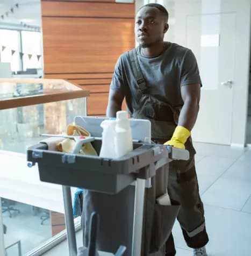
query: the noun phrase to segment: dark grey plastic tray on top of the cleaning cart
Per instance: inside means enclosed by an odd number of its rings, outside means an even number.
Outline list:
[[[101,143],[101,140],[92,143],[98,153]],[[105,159],[48,151],[47,145],[40,143],[28,148],[27,160],[38,163],[41,181],[117,194],[137,178],[153,177],[156,173],[153,163],[177,154],[172,147],[162,145],[133,143],[133,148],[121,158]]]

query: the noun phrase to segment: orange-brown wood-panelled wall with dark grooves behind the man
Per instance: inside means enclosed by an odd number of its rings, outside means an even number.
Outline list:
[[[42,0],[41,5],[45,77],[90,89],[88,115],[105,115],[116,61],[134,48],[134,4]]]

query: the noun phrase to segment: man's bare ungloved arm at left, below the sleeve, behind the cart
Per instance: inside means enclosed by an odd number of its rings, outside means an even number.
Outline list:
[[[106,109],[107,117],[116,117],[117,111],[121,110],[125,95],[121,90],[112,90],[109,92],[109,99]]]

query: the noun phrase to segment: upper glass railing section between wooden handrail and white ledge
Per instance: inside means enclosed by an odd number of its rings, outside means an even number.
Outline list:
[[[77,115],[85,115],[84,98],[0,110],[0,150],[26,153],[40,134],[66,133]]]

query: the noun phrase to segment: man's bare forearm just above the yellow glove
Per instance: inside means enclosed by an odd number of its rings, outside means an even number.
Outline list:
[[[187,100],[181,109],[180,117],[178,119],[178,125],[192,130],[195,125],[199,112],[199,104],[197,101]]]

